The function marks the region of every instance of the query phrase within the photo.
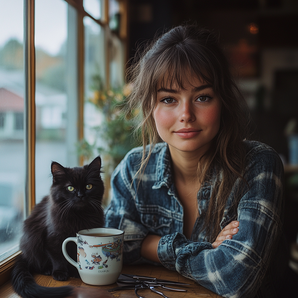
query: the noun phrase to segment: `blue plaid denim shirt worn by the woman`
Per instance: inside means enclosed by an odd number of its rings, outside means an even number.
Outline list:
[[[141,243],[146,235],[156,234],[162,236],[157,253],[166,268],[224,297],[275,297],[278,272],[270,268],[276,269],[274,262],[280,260],[276,254],[282,251],[283,164],[269,146],[254,141],[245,144],[244,178],[249,187],[240,179],[235,182],[221,220],[224,228],[237,218],[239,232],[215,249],[204,241],[201,227],[216,173],[198,191],[199,216],[187,239],[167,144],[155,146],[138,190],[133,178],[142,148],[131,150],[112,174],[112,199],[105,210],[106,226],[125,231],[125,262],[149,262],[140,256]],[[238,214],[234,214],[231,204],[239,194]]]

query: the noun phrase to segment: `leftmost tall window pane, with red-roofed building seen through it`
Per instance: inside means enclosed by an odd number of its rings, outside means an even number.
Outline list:
[[[0,0],[0,261],[18,250],[24,210],[23,0]]]

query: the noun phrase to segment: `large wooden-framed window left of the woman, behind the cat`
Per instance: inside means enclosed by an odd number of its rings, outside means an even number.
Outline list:
[[[87,103],[94,76],[103,88],[124,82],[126,0],[110,2],[0,0],[0,285],[23,219],[49,193],[51,160],[83,163],[78,144],[84,133],[92,138],[90,114],[100,121]]]

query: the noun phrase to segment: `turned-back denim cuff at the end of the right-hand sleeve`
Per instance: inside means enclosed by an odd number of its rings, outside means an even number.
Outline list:
[[[176,270],[177,253],[192,242],[178,232],[160,238],[157,255],[162,265],[170,270]]]

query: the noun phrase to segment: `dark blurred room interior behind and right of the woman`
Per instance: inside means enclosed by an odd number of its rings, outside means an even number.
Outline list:
[[[219,33],[250,108],[251,139],[273,147],[286,165],[284,229],[296,241],[298,170],[288,167],[287,134],[298,133],[298,1],[131,0],[129,12],[129,57],[184,21]]]

